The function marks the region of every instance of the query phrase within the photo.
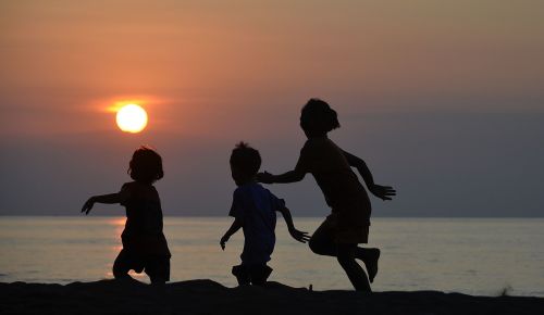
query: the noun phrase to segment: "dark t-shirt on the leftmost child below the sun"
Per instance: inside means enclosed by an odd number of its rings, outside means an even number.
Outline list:
[[[121,235],[123,249],[138,255],[170,257],[162,232],[162,209],[157,189],[152,185],[132,181],[124,184],[121,190],[128,194],[128,200],[122,203],[126,210],[125,229]]]

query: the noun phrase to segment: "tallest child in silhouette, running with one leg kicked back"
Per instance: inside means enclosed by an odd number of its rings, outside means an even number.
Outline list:
[[[327,133],[338,128],[339,123],[336,112],[326,102],[310,99],[302,108],[300,127],[308,140],[295,169],[282,175],[260,173],[257,180],[264,184],[295,182],[311,173],[332,213],[312,235],[310,249],[320,255],[336,256],[355,289],[371,292],[367,274],[356,259],[364,263],[372,282],[378,273],[380,250],[358,247],[358,243],[368,242],[371,205],[351,166],[357,168],[370,192],[378,198],[391,200],[396,192],[392,187],[375,185],[364,161],[343,151],[327,138]]]

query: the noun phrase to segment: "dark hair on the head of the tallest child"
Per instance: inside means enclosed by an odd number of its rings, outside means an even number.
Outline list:
[[[310,99],[302,108],[300,126],[305,130],[329,133],[339,128],[338,115],[325,101]]]

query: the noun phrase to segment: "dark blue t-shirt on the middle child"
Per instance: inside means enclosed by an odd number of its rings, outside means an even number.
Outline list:
[[[283,207],[283,199],[257,182],[242,185],[234,191],[228,215],[243,220],[243,264],[263,264],[270,261],[275,244],[275,212]]]

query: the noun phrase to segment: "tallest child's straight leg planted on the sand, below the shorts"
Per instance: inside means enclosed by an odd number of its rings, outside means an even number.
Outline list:
[[[338,243],[336,257],[357,291],[372,292],[367,274],[355,260],[357,250],[357,244]]]

